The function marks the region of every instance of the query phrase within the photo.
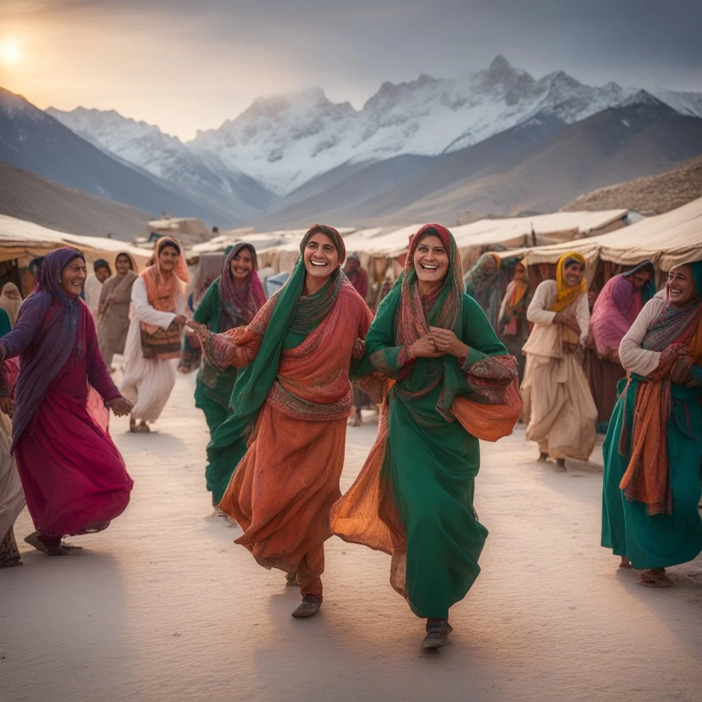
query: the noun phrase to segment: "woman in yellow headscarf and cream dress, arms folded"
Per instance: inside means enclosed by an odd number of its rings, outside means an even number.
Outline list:
[[[534,329],[524,345],[526,436],[538,442],[539,461],[555,458],[559,471],[566,458],[587,461],[595,446],[597,409],[582,365],[590,323],[585,263],[580,253],[564,253],[556,279],[538,285],[527,310]]]

